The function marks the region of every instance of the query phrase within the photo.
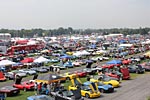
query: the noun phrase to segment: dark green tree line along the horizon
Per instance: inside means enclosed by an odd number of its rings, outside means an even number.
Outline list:
[[[58,35],[71,35],[71,34],[91,34],[91,33],[101,33],[107,35],[109,33],[122,33],[124,35],[131,34],[142,34],[146,35],[150,33],[150,28],[112,28],[112,29],[73,29],[72,27],[58,29],[44,30],[41,28],[37,29],[21,29],[21,30],[9,30],[0,29],[0,33],[10,33],[12,37],[41,37],[41,36],[58,36]]]

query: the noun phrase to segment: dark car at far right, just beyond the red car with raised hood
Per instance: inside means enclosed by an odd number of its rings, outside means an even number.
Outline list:
[[[131,66],[128,66],[128,69],[130,73],[140,74],[140,73],[145,72],[145,68],[141,65],[131,65]]]

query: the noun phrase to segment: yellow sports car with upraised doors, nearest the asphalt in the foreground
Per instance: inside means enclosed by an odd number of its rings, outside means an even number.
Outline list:
[[[69,86],[69,90],[76,90],[77,88],[81,89],[81,95],[86,98],[95,98],[100,96],[98,86],[94,82],[85,82],[81,84],[79,78],[71,79],[72,86]]]

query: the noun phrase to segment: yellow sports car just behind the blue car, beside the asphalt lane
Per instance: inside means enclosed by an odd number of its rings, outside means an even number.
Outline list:
[[[112,85],[113,87],[119,87],[120,83],[117,80],[112,80],[110,78],[104,78],[100,76],[95,76],[94,78],[90,79],[90,82],[102,82],[103,84],[109,84]]]

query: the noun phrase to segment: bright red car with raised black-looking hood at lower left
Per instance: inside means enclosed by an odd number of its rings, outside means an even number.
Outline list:
[[[34,82],[25,81],[21,83],[22,78],[16,79],[15,84],[13,84],[13,87],[16,87],[21,90],[34,90]]]

